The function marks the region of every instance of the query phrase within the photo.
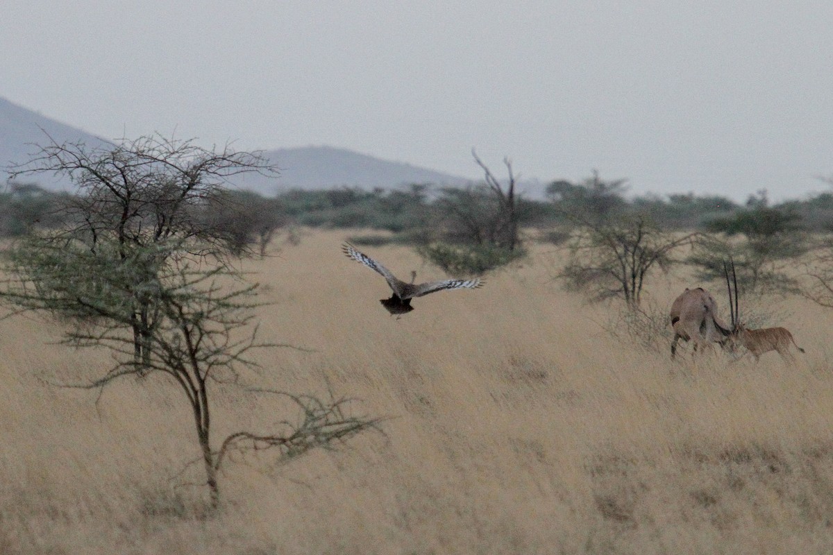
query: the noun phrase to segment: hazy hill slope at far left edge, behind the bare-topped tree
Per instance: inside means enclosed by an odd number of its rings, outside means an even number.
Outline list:
[[[49,136],[59,143],[83,141],[92,146],[106,142],[87,131],[42,116],[0,97],[0,184],[8,177],[5,169],[7,166],[28,161],[37,152],[37,145],[47,144]],[[31,181],[49,188],[69,185],[69,180],[59,180],[46,174],[32,177]]]

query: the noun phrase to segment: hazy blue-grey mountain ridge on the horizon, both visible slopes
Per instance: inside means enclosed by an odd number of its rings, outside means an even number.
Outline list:
[[[58,143],[82,141],[88,146],[99,146],[109,142],[0,97],[0,184],[7,180],[4,168],[28,161],[37,151],[37,145],[47,144],[47,135]],[[293,188],[330,189],[350,186],[369,190],[412,183],[462,186],[471,181],[441,171],[404,162],[385,161],[332,146],[280,148],[263,151],[263,156],[281,169],[280,176],[276,179],[244,174],[237,176],[234,185],[265,196],[273,196],[278,191]],[[36,182],[49,189],[71,186],[66,178],[56,179],[46,174],[31,176],[25,181]]]

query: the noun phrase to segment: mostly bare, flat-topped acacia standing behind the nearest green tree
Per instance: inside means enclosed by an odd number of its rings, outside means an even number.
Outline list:
[[[42,235],[42,240],[57,247],[80,242],[92,255],[112,258],[116,264],[127,263],[132,248],[169,240],[177,240],[179,248],[157,251],[158,256],[170,257],[165,263],[182,256],[224,260],[236,245],[206,221],[203,209],[209,202],[222,202],[223,186],[247,172],[274,175],[277,168],[257,152],[228,146],[207,150],[193,141],[159,135],[92,147],[82,142],[59,144],[50,137],[31,160],[9,168],[12,179],[41,173],[69,176],[76,194],[61,209],[67,225]],[[85,307],[67,301],[68,315],[87,315]],[[132,330],[134,357],[147,359],[152,306],[139,291],[132,295],[131,305],[131,316],[123,325]]]

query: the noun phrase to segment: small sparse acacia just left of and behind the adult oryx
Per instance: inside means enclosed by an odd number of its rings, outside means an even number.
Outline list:
[[[698,235],[673,235],[645,216],[575,221],[570,257],[558,277],[568,290],[584,291],[591,300],[619,297],[631,309],[639,308],[646,275],[655,266],[666,270],[673,251]]]

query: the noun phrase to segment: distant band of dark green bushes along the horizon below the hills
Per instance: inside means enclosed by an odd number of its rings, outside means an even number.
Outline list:
[[[81,181],[89,188],[87,181]],[[624,180],[605,181],[598,174],[577,184],[553,181],[546,187],[550,201],[516,196],[514,217],[524,228],[542,228],[644,216],[667,230],[747,235],[761,238],[762,246],[771,244],[772,237],[801,229],[833,230],[833,193],[829,192],[779,206],[769,206],[761,193],[752,196],[747,206],[739,206],[725,196],[692,193],[648,194],[628,200],[623,196],[625,191]],[[492,242],[507,229],[506,215],[500,214],[500,196],[484,184],[436,190],[427,185],[373,191],[341,187],[287,191],[272,198],[233,190],[222,194],[212,191],[214,195],[216,198],[192,215],[212,225],[216,239],[237,254],[252,245],[262,246],[276,230],[291,225],[387,230],[403,242],[441,240],[461,245]],[[82,201],[81,196],[52,193],[37,185],[12,184],[8,191],[0,192],[0,236],[19,236],[34,228],[62,225],[67,222],[66,206],[80,206]],[[147,225],[143,228],[150,229]],[[796,245],[783,247],[792,249]]]

